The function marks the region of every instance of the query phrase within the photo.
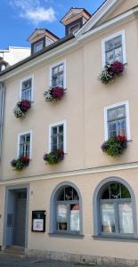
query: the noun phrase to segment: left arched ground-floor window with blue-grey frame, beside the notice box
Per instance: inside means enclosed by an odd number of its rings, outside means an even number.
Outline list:
[[[54,190],[51,199],[51,231],[80,234],[80,199],[77,190],[69,185],[62,185]]]

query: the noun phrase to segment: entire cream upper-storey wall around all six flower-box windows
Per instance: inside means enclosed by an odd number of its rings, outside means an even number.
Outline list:
[[[122,77],[110,85],[102,85],[98,77],[101,72],[101,39],[118,31],[126,31],[126,69]],[[137,61],[138,24],[132,20],[118,28],[110,28],[101,36],[85,43],[82,48],[66,54],[56,61],[66,59],[67,93],[53,104],[43,99],[49,86],[51,63],[23,72],[6,83],[4,118],[3,178],[11,179],[30,175],[65,172],[97,166],[117,165],[137,161],[138,127],[136,126],[137,105]],[[27,117],[20,121],[12,109],[19,100],[20,79],[34,75],[34,102]],[[132,82],[133,81],[133,82]],[[132,141],[120,158],[110,158],[101,151],[104,141],[104,107],[121,101],[129,101],[130,130]],[[67,121],[67,154],[56,166],[45,166],[43,154],[48,151],[48,126],[61,120]],[[32,160],[24,171],[12,171],[10,162],[17,157],[18,134],[33,131]]]

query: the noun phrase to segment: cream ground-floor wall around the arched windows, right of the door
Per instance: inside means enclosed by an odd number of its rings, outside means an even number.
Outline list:
[[[127,259],[137,259],[137,242],[125,239],[93,239],[93,192],[98,184],[110,176],[118,176],[129,183],[134,190],[135,197],[138,194],[137,170],[110,172],[104,174],[89,174],[51,179],[41,182],[31,182],[29,196],[29,220],[28,220],[28,249],[69,252],[75,254],[101,255]],[[79,190],[83,203],[83,234],[84,238],[49,236],[50,231],[50,198],[56,185],[61,182],[73,182]],[[136,199],[138,206],[138,198]],[[32,210],[46,210],[45,233],[31,232]],[[138,214],[137,214],[138,220]],[[66,246],[65,246],[66,244]]]

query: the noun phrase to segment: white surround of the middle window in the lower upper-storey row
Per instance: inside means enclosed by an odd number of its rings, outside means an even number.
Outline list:
[[[63,125],[63,138],[64,138],[64,142],[63,142],[63,151],[64,153],[67,153],[67,122],[66,120],[62,120],[60,122],[54,123],[49,125],[49,142],[48,142],[48,150],[49,153],[52,151],[52,146],[51,146],[51,134],[52,134],[52,128],[54,126],[58,126],[58,125]]]

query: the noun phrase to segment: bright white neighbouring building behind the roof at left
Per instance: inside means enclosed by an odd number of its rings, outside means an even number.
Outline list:
[[[0,71],[12,66],[19,61],[24,60],[30,55],[28,47],[9,46],[8,49],[0,50]]]

